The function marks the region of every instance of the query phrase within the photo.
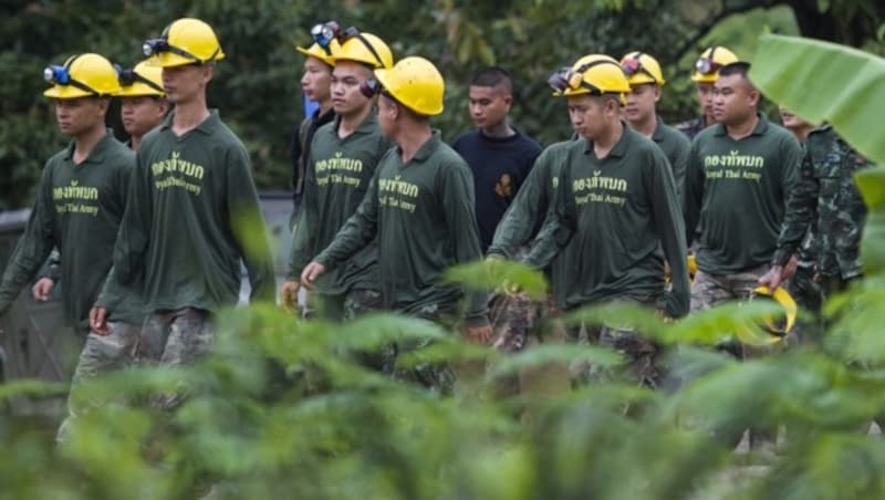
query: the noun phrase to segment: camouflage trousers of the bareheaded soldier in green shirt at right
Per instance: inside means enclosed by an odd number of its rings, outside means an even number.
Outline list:
[[[732,274],[709,274],[698,269],[691,283],[691,311],[702,311],[731,300],[749,300],[759,287],[759,278],[768,270],[768,264]],[[728,333],[722,332],[723,335]],[[723,342],[718,348],[738,360],[759,357],[772,351],[772,347],[747,345],[736,340]]]

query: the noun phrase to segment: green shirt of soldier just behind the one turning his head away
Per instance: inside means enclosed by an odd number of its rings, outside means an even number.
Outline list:
[[[335,239],[365,197],[378,160],[391,148],[391,143],[381,135],[374,113],[343,139],[337,133],[340,123],[341,118],[321,127],[311,143],[289,267],[290,280],[298,280],[311,259]],[[375,240],[316,281],[317,292],[330,294],[377,288]]]

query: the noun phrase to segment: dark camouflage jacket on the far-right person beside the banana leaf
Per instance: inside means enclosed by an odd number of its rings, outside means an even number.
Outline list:
[[[802,180],[789,200],[787,217],[772,263],[784,265],[808,228],[816,223],[816,271],[824,294],[861,277],[861,232],[866,207],[854,184],[854,173],[871,164],[829,125],[813,131],[805,143]]]

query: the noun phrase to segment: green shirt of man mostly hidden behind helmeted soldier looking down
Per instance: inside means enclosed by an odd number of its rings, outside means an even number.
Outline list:
[[[572,143],[573,140],[555,143],[541,152],[513,202],[498,223],[494,239],[489,246],[489,254],[513,259],[517,250],[530,243],[537,236],[559,186],[562,158],[565,157]],[[553,302],[560,308],[565,305],[568,273],[571,272],[575,258],[575,247],[566,244],[550,263],[548,270]]]

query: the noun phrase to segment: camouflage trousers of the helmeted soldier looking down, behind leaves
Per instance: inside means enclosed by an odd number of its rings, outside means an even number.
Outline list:
[[[643,305],[654,304],[654,298],[621,299]],[[659,348],[643,337],[642,333],[623,325],[572,325],[565,330],[566,338],[577,344],[598,344],[617,352],[625,364],[617,371],[603,368],[586,362],[572,364],[569,372],[573,386],[624,378],[637,385],[657,388],[662,371],[657,364]]]

